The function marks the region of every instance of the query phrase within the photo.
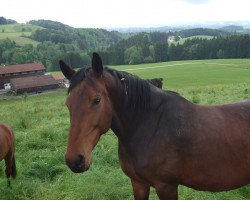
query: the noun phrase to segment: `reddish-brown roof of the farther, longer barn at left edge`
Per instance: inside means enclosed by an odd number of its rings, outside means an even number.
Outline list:
[[[42,63],[28,63],[20,65],[0,66],[0,74],[30,72],[37,70],[45,70],[45,67],[43,66]]]

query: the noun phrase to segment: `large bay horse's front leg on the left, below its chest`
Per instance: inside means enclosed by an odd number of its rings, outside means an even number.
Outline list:
[[[150,186],[131,179],[135,200],[148,200]]]

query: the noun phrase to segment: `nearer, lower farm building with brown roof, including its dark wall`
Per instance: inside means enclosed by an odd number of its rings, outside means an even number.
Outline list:
[[[53,90],[59,87],[58,82],[51,75],[37,75],[13,78],[10,86],[16,94],[24,92],[40,93],[44,90]]]

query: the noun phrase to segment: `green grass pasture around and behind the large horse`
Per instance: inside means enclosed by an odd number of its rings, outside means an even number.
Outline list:
[[[250,59],[166,62],[117,66],[142,78],[162,77],[164,88],[198,104],[250,98]],[[0,163],[0,199],[133,199],[130,180],[120,169],[117,139],[109,131],[92,155],[88,172],[74,174],[64,162],[69,114],[66,91],[0,101],[0,121],[16,135],[18,176],[7,188]],[[158,199],[152,189],[151,200]],[[222,193],[179,186],[181,200],[249,200],[250,185]]]

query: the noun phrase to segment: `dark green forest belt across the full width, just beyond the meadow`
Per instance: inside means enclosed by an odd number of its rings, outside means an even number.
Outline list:
[[[183,44],[170,44],[164,33],[140,33],[121,40],[106,50],[99,50],[103,62],[109,65],[140,64],[174,60],[250,58],[250,36],[230,35],[213,39],[187,39]],[[92,52],[92,51],[91,51]],[[91,52],[80,51],[72,44],[42,42],[19,47],[15,42],[0,40],[0,63],[42,62],[48,71],[58,70],[63,59],[74,67],[90,64]]]

